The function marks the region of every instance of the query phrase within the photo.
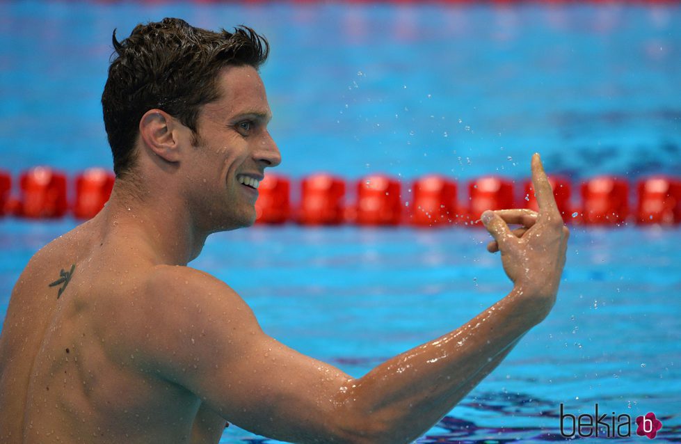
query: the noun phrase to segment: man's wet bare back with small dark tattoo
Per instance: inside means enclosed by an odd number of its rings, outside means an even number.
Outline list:
[[[192,442],[217,442],[224,420],[121,347],[154,264],[99,232],[90,221],[52,241],[13,290],[0,337],[0,442],[186,443],[197,413]]]

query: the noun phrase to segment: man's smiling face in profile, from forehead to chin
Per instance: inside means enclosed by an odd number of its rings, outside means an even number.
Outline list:
[[[252,225],[258,196],[254,181],[262,180],[266,167],[281,162],[267,131],[272,114],[257,71],[224,68],[218,88],[221,98],[200,111],[198,143],[184,169],[192,215],[211,232]]]

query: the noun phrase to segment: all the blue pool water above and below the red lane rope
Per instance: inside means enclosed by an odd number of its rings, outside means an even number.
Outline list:
[[[99,95],[111,30],[165,15],[269,37],[262,77],[291,177],[520,178],[535,150],[575,181],[681,171],[681,7],[614,4],[3,2],[0,168],[109,167]],[[0,219],[0,322],[29,257],[74,225]],[[267,333],[362,376],[508,292],[487,240],[255,227],[214,235],[193,266],[230,283]],[[572,228],[552,314],[419,442],[554,441],[561,403],[652,411],[658,439],[681,442],[680,243],[679,228]],[[273,441],[232,426],[223,442]]]

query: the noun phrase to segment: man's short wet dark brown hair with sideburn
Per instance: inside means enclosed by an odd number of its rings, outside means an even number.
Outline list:
[[[112,40],[102,111],[116,177],[134,164],[144,113],[162,109],[196,136],[201,106],[220,97],[218,71],[227,65],[258,69],[269,54],[267,40],[248,26],[214,32],[174,18],[138,24],[120,42],[114,29]]]

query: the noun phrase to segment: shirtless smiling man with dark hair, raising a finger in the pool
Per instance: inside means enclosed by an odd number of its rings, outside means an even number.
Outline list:
[[[513,281],[495,305],[360,379],[280,344],[234,290],[186,267],[209,234],[253,224],[258,182],[280,163],[257,72],[268,45],[165,19],[114,46],[102,104],[115,187],[13,290],[1,443],[217,443],[227,421],[282,441],[408,443],[554,305],[568,230],[535,155],[538,214],[483,214]]]

